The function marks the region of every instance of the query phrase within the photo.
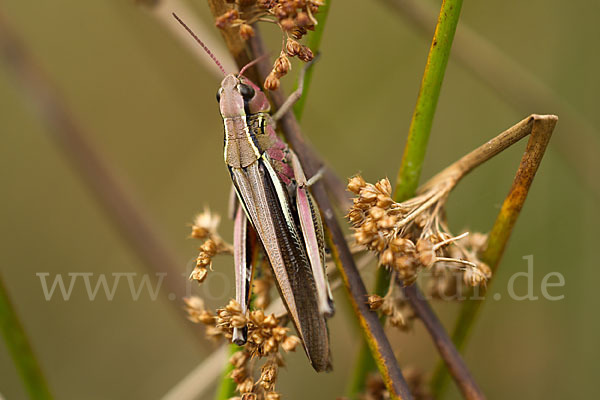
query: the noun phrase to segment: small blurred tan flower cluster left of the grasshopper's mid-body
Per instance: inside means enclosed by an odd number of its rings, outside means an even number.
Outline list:
[[[225,242],[217,233],[217,227],[221,217],[210,212],[208,208],[198,214],[192,224],[191,238],[203,240],[200,253],[196,258],[196,267],[190,275],[190,279],[202,283],[208,275],[208,269],[212,266],[212,259],[217,254],[233,254],[233,247]]]

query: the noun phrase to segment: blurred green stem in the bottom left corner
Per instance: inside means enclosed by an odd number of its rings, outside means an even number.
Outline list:
[[[6,347],[21,375],[31,399],[52,399],[46,379],[42,374],[25,330],[10,302],[2,277],[0,276],[0,331]]]

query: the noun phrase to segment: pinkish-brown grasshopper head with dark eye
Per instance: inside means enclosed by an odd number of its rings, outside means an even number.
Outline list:
[[[245,76],[229,74],[221,82],[217,101],[223,118],[269,111],[267,96]]]

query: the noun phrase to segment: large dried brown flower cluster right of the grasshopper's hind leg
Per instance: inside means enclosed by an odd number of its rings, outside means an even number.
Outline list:
[[[426,187],[416,197],[395,202],[388,179],[375,185],[357,175],[349,180],[348,190],[357,194],[347,218],[354,228],[357,244],[379,254],[379,261],[392,270],[405,285],[417,278],[421,269],[443,262],[463,271],[466,284],[485,284],[489,267],[456,241],[443,218],[444,204],[453,182],[442,180]],[[452,249],[452,251],[450,251]]]

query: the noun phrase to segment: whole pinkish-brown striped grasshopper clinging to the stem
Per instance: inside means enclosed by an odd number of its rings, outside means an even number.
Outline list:
[[[333,298],[325,273],[325,240],[316,203],[298,157],[275,131],[266,95],[246,78],[246,65],[227,74],[202,41],[175,18],[204,48],[225,76],[217,92],[225,128],[224,159],[237,197],[234,210],[236,300],[249,306],[253,265],[248,233],[253,229],[270,262],[277,289],[304,350],[316,371],[331,369],[327,317]],[[302,85],[299,85],[301,90]],[[296,93],[296,98],[299,93]],[[287,107],[293,102],[286,102]],[[314,178],[314,177],[313,177]],[[243,345],[246,328],[235,328],[232,341]]]

